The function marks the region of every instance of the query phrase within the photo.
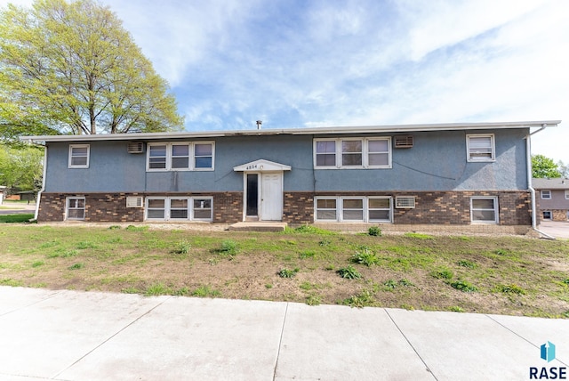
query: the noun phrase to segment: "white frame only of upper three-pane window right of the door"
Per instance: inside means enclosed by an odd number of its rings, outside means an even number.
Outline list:
[[[370,152],[369,151],[369,142],[374,141],[385,141],[387,142],[388,150],[387,152]],[[335,163],[332,166],[317,166],[317,144],[318,142],[334,142],[334,155],[335,155]],[[362,155],[362,164],[361,165],[343,165],[343,150],[342,150],[342,142],[361,142],[362,143],[362,151],[358,152]],[[388,155],[388,164],[382,166],[373,166],[369,164],[369,155],[374,153],[386,153]],[[331,153],[329,153],[331,154]],[[321,153],[321,155],[323,155]],[[344,138],[315,138],[313,140],[313,166],[315,169],[389,169],[391,168],[391,157],[392,157],[392,148],[391,148],[391,136],[376,136],[376,137],[344,137]]]

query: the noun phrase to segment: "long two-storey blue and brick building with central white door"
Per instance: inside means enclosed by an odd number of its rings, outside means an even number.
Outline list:
[[[560,121],[30,136],[39,222],[532,224],[531,128]]]

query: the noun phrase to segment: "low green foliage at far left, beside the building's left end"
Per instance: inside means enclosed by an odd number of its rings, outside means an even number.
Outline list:
[[[39,190],[44,170],[44,149],[0,144],[0,185],[16,190]]]

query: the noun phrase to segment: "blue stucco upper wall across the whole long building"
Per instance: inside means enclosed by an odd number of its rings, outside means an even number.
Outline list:
[[[315,169],[314,138],[352,135],[225,136],[215,142],[214,171],[147,172],[146,153],[129,154],[126,142],[90,144],[89,168],[68,168],[69,142],[50,142],[45,190],[49,192],[242,191],[244,174],[234,166],[266,159],[291,166],[284,191],[526,190],[526,128],[414,132],[413,148],[393,149],[385,169]],[[466,135],[494,134],[494,162],[469,163]],[[364,136],[393,136],[366,134]],[[354,137],[356,135],[353,135]],[[197,142],[199,140],[192,140]],[[153,141],[156,142],[156,141]],[[164,140],[163,142],[174,142]]]

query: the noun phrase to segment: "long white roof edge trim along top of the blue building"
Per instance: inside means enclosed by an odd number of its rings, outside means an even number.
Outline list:
[[[532,122],[493,122],[493,123],[444,123],[427,125],[389,125],[389,126],[336,126],[310,128],[284,128],[234,131],[201,131],[177,133],[137,133],[137,134],[89,134],[89,135],[39,135],[21,136],[22,142],[85,142],[85,141],[134,141],[164,139],[195,139],[217,136],[260,136],[260,135],[307,135],[307,134],[373,134],[373,133],[409,133],[413,131],[452,131],[483,130],[503,128],[553,127],[561,120],[539,120]]]

